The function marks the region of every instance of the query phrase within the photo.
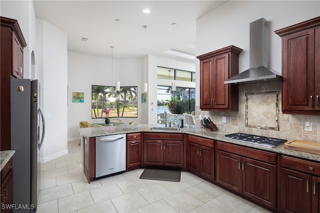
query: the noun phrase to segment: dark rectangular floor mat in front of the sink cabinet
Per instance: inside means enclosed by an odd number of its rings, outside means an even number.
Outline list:
[[[144,169],[140,179],[180,182],[181,171]]]

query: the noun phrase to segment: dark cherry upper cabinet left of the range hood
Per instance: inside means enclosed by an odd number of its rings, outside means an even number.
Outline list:
[[[238,85],[224,81],[239,73],[242,49],[228,46],[197,58],[200,60],[200,109],[238,111]]]

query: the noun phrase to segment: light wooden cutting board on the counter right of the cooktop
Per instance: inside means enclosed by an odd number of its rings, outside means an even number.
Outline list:
[[[284,143],[284,148],[320,155],[320,143],[317,142],[300,140],[288,141]]]

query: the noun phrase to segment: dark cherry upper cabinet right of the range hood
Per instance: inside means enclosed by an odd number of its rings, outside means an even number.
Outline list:
[[[282,112],[320,115],[320,17],[274,32],[282,40]]]

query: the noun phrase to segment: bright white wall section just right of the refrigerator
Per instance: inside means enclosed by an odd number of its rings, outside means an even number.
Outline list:
[[[42,160],[47,162],[67,154],[67,35],[42,19],[36,19],[36,28],[45,117]]]

